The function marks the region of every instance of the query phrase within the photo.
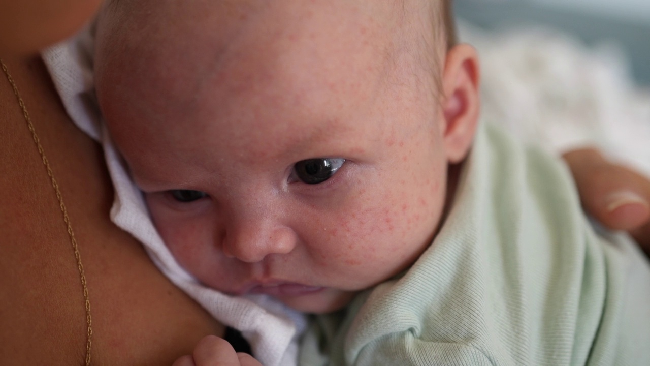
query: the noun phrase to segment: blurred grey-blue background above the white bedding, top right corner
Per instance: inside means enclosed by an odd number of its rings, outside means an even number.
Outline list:
[[[484,29],[547,25],[588,46],[617,44],[634,81],[650,87],[650,0],[454,0],[456,15]]]

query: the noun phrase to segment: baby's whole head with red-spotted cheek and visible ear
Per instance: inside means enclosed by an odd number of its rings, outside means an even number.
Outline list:
[[[188,272],[322,313],[417,260],[478,115],[441,1],[107,5],[101,109]]]

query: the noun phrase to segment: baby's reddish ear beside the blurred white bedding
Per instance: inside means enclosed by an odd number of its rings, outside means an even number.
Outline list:
[[[443,70],[443,142],[447,160],[458,163],[471,147],[480,110],[478,56],[467,44],[447,52]]]

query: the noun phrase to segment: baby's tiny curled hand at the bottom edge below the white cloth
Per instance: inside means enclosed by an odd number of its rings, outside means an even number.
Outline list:
[[[192,355],[186,355],[172,366],[262,366],[249,354],[237,353],[225,339],[208,335],[194,348]]]

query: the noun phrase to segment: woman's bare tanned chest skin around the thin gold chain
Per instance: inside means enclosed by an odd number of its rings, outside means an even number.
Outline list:
[[[110,222],[101,147],[66,115],[39,57],[4,58],[68,208],[90,292],[94,365],[171,365],[224,328]],[[54,190],[0,74],[0,365],[81,365],[86,318]]]

